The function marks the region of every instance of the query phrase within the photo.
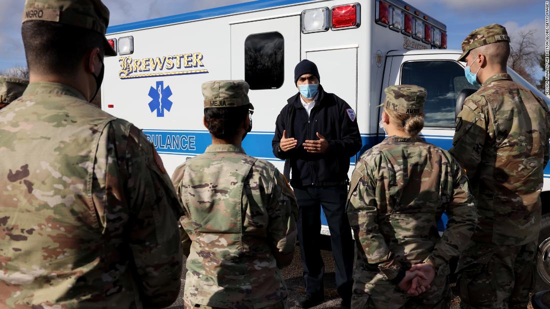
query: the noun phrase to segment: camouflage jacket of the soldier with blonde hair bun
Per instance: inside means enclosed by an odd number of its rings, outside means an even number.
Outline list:
[[[477,219],[458,162],[420,137],[392,136],[367,150],[351,176],[346,207],[356,240],[355,286],[363,288],[425,260],[448,271]],[[444,211],[448,228],[439,238]]]

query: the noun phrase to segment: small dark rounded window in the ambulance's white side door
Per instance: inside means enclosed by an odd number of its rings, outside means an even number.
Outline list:
[[[279,32],[249,35],[244,42],[244,78],[250,89],[277,89],[284,82],[284,38]]]

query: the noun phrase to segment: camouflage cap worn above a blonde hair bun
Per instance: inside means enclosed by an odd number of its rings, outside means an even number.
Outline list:
[[[386,100],[378,107],[397,111],[400,114],[420,115],[424,113],[426,89],[415,85],[395,85],[384,89]]]

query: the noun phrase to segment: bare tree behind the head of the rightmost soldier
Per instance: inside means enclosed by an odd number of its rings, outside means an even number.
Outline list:
[[[533,35],[535,30],[520,31],[510,43],[510,58],[508,66],[518,72],[531,85],[537,85],[537,80],[533,77],[533,71],[538,68],[540,52],[537,50],[537,44]]]

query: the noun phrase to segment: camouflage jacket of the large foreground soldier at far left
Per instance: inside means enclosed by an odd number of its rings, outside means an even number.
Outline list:
[[[155,150],[73,88],[0,111],[0,307],[156,308],[178,295],[178,203]]]

